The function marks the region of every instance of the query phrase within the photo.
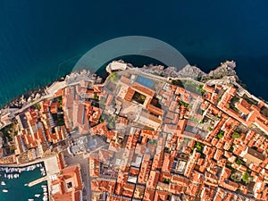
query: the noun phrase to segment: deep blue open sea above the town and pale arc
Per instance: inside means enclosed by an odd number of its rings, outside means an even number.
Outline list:
[[[268,99],[265,0],[0,0],[0,105],[71,71],[107,39],[161,39],[209,71],[226,59],[248,89]]]

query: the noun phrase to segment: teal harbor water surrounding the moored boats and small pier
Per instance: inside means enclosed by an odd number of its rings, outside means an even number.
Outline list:
[[[18,172],[13,172],[13,174],[14,173]],[[20,177],[17,179],[4,178],[3,171],[0,171],[0,174],[0,182],[4,181],[6,184],[5,186],[0,185],[1,201],[28,201],[29,198],[34,198],[35,201],[43,200],[43,188],[41,186],[47,185],[46,181],[32,187],[24,186],[25,183],[29,183],[30,181],[37,180],[42,177],[39,168],[29,172],[21,172]],[[8,192],[4,193],[3,189],[8,189]],[[40,194],[41,196],[35,197],[36,194]]]

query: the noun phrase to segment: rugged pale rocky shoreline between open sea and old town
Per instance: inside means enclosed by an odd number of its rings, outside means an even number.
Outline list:
[[[123,61],[120,61],[123,62]],[[133,67],[130,64],[130,67]],[[220,66],[215,68],[213,71],[210,71],[209,73],[205,73],[204,71],[201,71],[196,66],[187,65],[184,68],[182,68],[180,71],[177,71],[175,67],[167,67],[164,68],[161,65],[144,65],[140,69],[142,71],[147,71],[150,73],[154,73],[163,77],[170,77],[170,78],[191,78],[193,80],[206,82],[208,80],[225,80],[225,81],[237,81],[239,84],[241,84],[241,81],[239,80],[239,77],[236,74],[236,71],[234,70],[236,67],[236,63],[234,61],[226,61],[224,63],[221,63]],[[78,74],[81,74],[83,71],[72,71],[70,74],[66,74],[63,78],[60,80],[55,80],[53,83],[47,84],[43,88],[35,88],[32,90],[29,90],[27,93],[23,94],[22,96],[15,97],[12,101],[10,101],[8,104],[1,107],[1,109],[6,108],[21,108],[24,105],[29,105],[32,101],[37,100],[38,98],[46,95],[46,88],[49,88],[51,85],[53,85],[57,81],[63,81],[66,80],[75,80]],[[89,73],[90,74],[90,73]],[[96,74],[94,74],[96,75]],[[90,77],[88,75],[88,72],[85,75],[86,77]],[[80,76],[79,76],[80,77]],[[97,76],[96,78],[99,78]],[[242,85],[243,87],[243,85]]]

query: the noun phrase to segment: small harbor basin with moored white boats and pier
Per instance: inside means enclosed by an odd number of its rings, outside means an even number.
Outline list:
[[[0,166],[1,201],[48,201],[44,163],[28,166]]]

